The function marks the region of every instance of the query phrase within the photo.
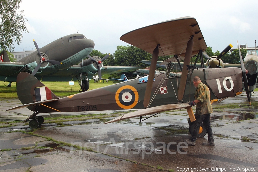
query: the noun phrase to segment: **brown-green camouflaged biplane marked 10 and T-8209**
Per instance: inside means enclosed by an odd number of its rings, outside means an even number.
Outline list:
[[[221,69],[198,69],[189,66],[191,56],[198,54],[198,58],[203,59],[203,51],[207,48],[198,23],[193,17],[163,21],[128,32],[120,39],[153,54],[147,82],[140,82],[136,78],[59,98],[33,75],[21,72],[17,77],[17,95],[23,105],[9,110],[27,107],[34,111],[24,120],[29,122],[31,128],[37,128],[44,122],[42,116],[37,116],[40,113],[122,109],[141,110],[106,123],[181,108],[187,109],[193,122],[194,114],[187,103],[193,100],[196,91],[191,82],[193,77],[199,76],[202,82],[208,85],[211,99],[225,99],[242,93],[242,77],[246,78],[244,66]],[[155,75],[159,54],[180,53],[185,57],[181,75],[173,77],[165,73]],[[203,129],[200,134],[204,136],[206,130]]]

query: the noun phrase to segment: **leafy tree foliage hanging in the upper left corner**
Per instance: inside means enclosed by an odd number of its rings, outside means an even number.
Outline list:
[[[13,51],[13,42],[20,44],[22,33],[28,32],[20,5],[21,0],[0,1],[0,49]]]

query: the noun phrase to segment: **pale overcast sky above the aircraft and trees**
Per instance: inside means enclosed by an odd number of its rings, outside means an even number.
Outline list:
[[[95,50],[115,53],[127,43],[119,38],[132,30],[184,16],[196,18],[213,52],[229,44],[255,46],[258,40],[257,0],[23,0],[20,10],[28,19],[15,51],[34,50],[65,35],[81,33],[95,42]],[[258,43],[257,43],[258,44]]]

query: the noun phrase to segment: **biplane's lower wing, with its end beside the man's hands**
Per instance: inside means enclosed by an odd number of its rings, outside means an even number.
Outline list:
[[[117,117],[113,120],[105,122],[104,124],[111,123],[111,122],[117,122],[117,121],[120,121],[120,120],[126,120],[126,119],[129,119],[129,118],[144,116],[144,115],[156,114],[156,113],[165,112],[165,111],[169,111],[169,110],[186,108],[186,107],[191,107],[191,106],[188,103],[178,103],[178,104],[168,104],[168,105],[150,107],[150,108],[147,108],[147,109],[141,109],[141,110],[137,110],[137,111],[134,111],[134,112],[130,112],[128,114],[124,114],[124,115],[119,116],[119,117]]]

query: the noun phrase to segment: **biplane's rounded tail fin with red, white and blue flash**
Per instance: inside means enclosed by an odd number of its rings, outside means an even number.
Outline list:
[[[18,74],[16,89],[18,98],[22,104],[59,99],[48,87],[27,72]],[[34,111],[36,106],[31,105],[27,108]]]

